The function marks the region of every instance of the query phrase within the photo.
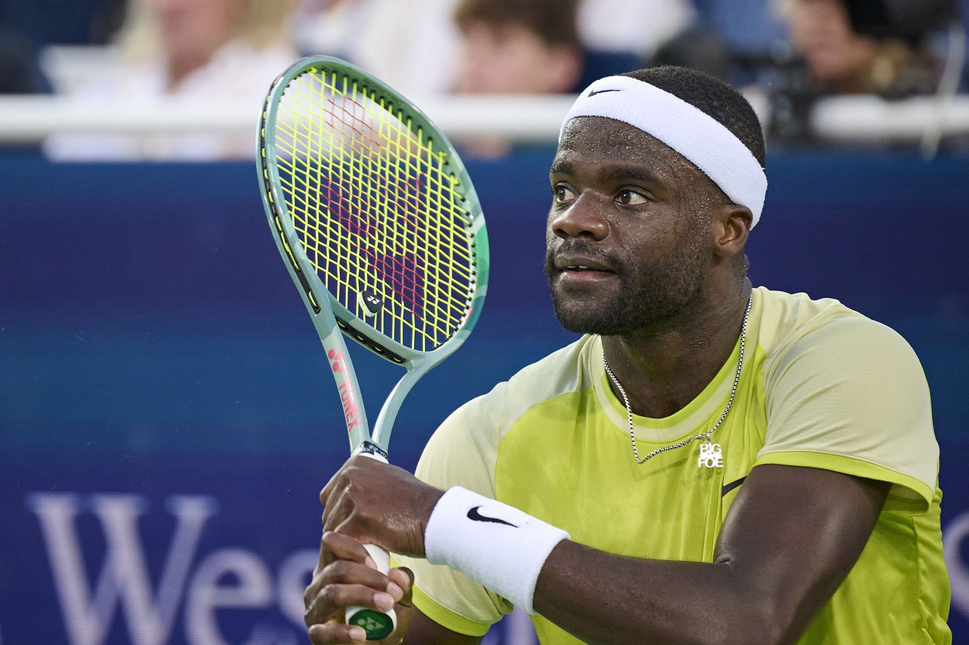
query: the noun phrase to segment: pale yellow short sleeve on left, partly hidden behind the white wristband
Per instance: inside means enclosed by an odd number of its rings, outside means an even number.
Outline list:
[[[418,479],[447,490],[462,486],[495,499],[494,466],[507,383],[465,403],[431,436],[415,472]],[[484,635],[510,613],[512,604],[459,571],[420,558],[394,556],[414,571],[414,603],[432,621],[471,636]]]

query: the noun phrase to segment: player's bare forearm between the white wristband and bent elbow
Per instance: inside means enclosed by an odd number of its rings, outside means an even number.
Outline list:
[[[595,645],[777,643],[792,620],[731,564],[637,560],[571,541],[542,568],[535,609]]]

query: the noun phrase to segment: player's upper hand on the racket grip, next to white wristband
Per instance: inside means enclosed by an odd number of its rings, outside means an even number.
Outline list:
[[[402,468],[352,457],[320,493],[323,525],[361,544],[423,558],[424,529],[442,495]]]

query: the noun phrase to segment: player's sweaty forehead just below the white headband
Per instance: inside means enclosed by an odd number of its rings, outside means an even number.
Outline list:
[[[671,182],[677,178],[709,181],[669,145],[635,126],[605,116],[578,116],[570,120],[555,159],[568,159],[571,164],[637,163]]]

